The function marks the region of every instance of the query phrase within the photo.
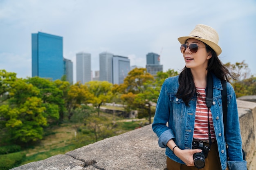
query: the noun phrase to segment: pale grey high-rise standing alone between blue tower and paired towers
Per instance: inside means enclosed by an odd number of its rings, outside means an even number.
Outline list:
[[[91,76],[91,54],[77,53],[76,54],[76,81],[84,84],[92,80]]]

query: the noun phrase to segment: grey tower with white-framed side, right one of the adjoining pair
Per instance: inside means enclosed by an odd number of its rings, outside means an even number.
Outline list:
[[[113,55],[113,84],[124,83],[125,77],[130,71],[130,59],[119,55]]]

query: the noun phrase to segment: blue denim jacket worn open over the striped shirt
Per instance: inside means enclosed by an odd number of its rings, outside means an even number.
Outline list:
[[[222,85],[220,79],[215,75],[212,75],[212,77],[213,102],[210,109],[213,117],[216,140],[218,143],[221,168],[222,170],[226,170],[228,163],[230,170],[246,170],[247,162],[243,161],[242,139],[240,135],[236,94],[231,84],[227,83],[228,122],[226,129],[227,141],[225,141],[221,101]],[[190,99],[189,106],[186,106],[182,99],[177,98],[175,95],[179,87],[178,78],[179,75],[169,77],[164,81],[157,100],[152,128],[157,137],[159,137],[159,146],[166,148],[166,155],[170,159],[184,164],[184,162],[176,157],[166,144],[170,139],[173,139],[180,149],[192,149],[197,97],[194,95]],[[167,122],[168,126],[166,126]],[[226,142],[229,146],[228,162]]]

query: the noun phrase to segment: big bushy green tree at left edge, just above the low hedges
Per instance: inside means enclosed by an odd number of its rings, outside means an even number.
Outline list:
[[[0,106],[0,117],[5,122],[1,131],[4,136],[2,139],[16,144],[42,139],[43,126],[47,125],[45,109],[42,100],[37,97],[29,97],[26,102],[15,108],[9,105]]]

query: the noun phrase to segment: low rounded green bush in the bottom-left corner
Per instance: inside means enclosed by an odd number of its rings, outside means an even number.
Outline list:
[[[26,154],[24,152],[15,152],[6,155],[0,155],[0,170],[9,170],[19,166]]]

